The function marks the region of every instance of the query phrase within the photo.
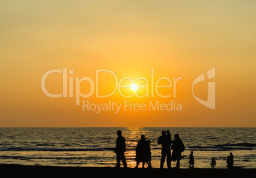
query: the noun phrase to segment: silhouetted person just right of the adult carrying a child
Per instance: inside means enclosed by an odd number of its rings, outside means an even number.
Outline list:
[[[173,141],[173,155],[171,156],[171,159],[176,163],[175,168],[180,168],[180,159],[181,159],[181,152],[184,151],[184,144],[182,143],[179,134],[175,134]]]

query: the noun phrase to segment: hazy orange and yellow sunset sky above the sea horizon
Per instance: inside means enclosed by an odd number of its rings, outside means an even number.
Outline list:
[[[255,1],[0,1],[0,127],[256,127],[255,8]],[[207,100],[208,82],[215,81],[215,110],[192,94],[193,81],[211,68],[215,79],[196,84],[194,94]],[[62,73],[48,75],[46,89],[60,98],[46,96],[41,88],[43,75],[52,69]],[[80,97],[76,105],[76,79],[96,82],[101,69],[115,73],[118,81],[144,77],[149,96],[124,98],[117,90],[97,98],[95,86],[92,96]],[[176,97],[173,86],[159,89],[171,97],[158,96],[160,77],[172,83],[182,77]],[[99,73],[99,93],[111,93],[115,82],[111,73]],[[90,87],[83,81],[80,92],[87,94]],[[121,91],[134,94],[130,88]],[[146,94],[146,87],[138,94]],[[122,107],[118,113],[96,113],[83,110],[83,101]],[[146,110],[124,110],[125,101],[145,103]],[[149,103],[157,101],[175,101],[182,110],[149,111]]]

